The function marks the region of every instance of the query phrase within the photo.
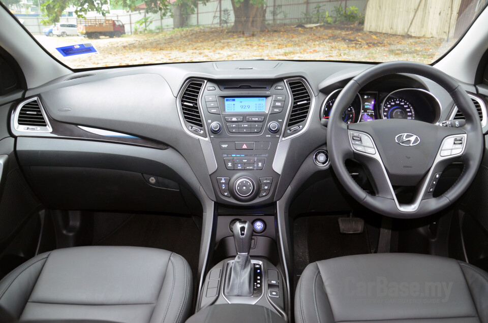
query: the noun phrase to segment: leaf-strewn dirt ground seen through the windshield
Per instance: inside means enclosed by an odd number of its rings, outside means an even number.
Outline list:
[[[56,58],[74,69],[131,64],[239,60],[413,60],[432,63],[455,40],[364,32],[357,26],[272,26],[253,36],[226,27],[189,27],[157,34],[88,40],[35,36]],[[56,47],[92,43],[99,54],[63,57]]]

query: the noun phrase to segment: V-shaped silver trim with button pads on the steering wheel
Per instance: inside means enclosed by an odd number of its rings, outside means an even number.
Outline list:
[[[358,151],[358,150],[354,149],[354,145],[352,144],[351,133],[357,133],[357,134],[361,134],[364,136],[368,136],[371,139],[371,142],[373,143],[373,146],[375,148],[375,153],[369,154],[369,153]],[[450,136],[445,137],[442,140],[441,145],[439,146],[439,150],[437,151],[436,158],[434,159],[434,163],[432,164],[432,167],[430,168],[429,173],[426,176],[424,176],[424,178],[422,179],[422,182],[420,184],[420,186],[422,188],[416,192],[416,195],[415,195],[414,200],[413,200],[414,202],[410,203],[410,204],[400,204],[398,202],[398,200],[396,199],[395,192],[394,192],[393,187],[391,185],[390,179],[388,178],[388,173],[386,172],[385,166],[383,164],[383,160],[381,159],[380,154],[378,153],[378,148],[376,147],[376,144],[375,144],[373,138],[371,138],[371,136],[367,133],[363,133],[361,131],[352,131],[352,130],[347,131],[347,136],[349,138],[349,144],[351,145],[351,149],[355,153],[359,153],[359,154],[362,154],[362,155],[365,155],[365,156],[368,156],[368,157],[371,157],[371,158],[378,160],[378,162],[381,165],[381,169],[383,170],[383,175],[385,176],[386,182],[388,183],[388,187],[390,188],[390,192],[391,192],[391,195],[393,197],[393,200],[395,201],[396,208],[401,212],[415,212],[415,211],[417,211],[417,209],[420,206],[420,203],[422,202],[422,199],[425,195],[426,188],[428,188],[428,186],[429,186],[429,180],[431,179],[432,173],[434,172],[434,169],[436,168],[437,164],[439,164],[439,162],[442,160],[461,156],[464,153],[464,150],[466,149],[466,145],[467,145],[467,135],[466,134],[450,135]],[[441,156],[440,155],[441,149],[442,149],[442,146],[444,145],[444,142],[447,139],[453,138],[453,137],[464,137],[465,144],[463,145],[463,150],[460,153],[457,153],[455,155]]]

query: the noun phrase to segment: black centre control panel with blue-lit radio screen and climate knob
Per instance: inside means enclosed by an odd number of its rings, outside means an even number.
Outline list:
[[[272,202],[279,174],[273,162],[290,94],[285,81],[208,81],[201,106],[217,161],[211,174],[219,202]]]

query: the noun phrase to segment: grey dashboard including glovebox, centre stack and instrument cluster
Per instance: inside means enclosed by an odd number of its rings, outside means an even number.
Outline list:
[[[53,209],[97,201],[99,210],[176,212],[187,192],[227,207],[272,205],[333,176],[321,121],[368,67],[226,61],[80,72],[28,90],[10,128],[29,183]],[[343,119],[454,116],[440,86],[393,75],[364,86]]]

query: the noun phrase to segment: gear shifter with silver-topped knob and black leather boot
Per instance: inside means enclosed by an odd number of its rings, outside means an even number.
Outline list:
[[[225,294],[229,296],[253,295],[253,270],[249,250],[253,238],[253,227],[249,221],[236,221],[234,232],[235,256],[225,281]]]

